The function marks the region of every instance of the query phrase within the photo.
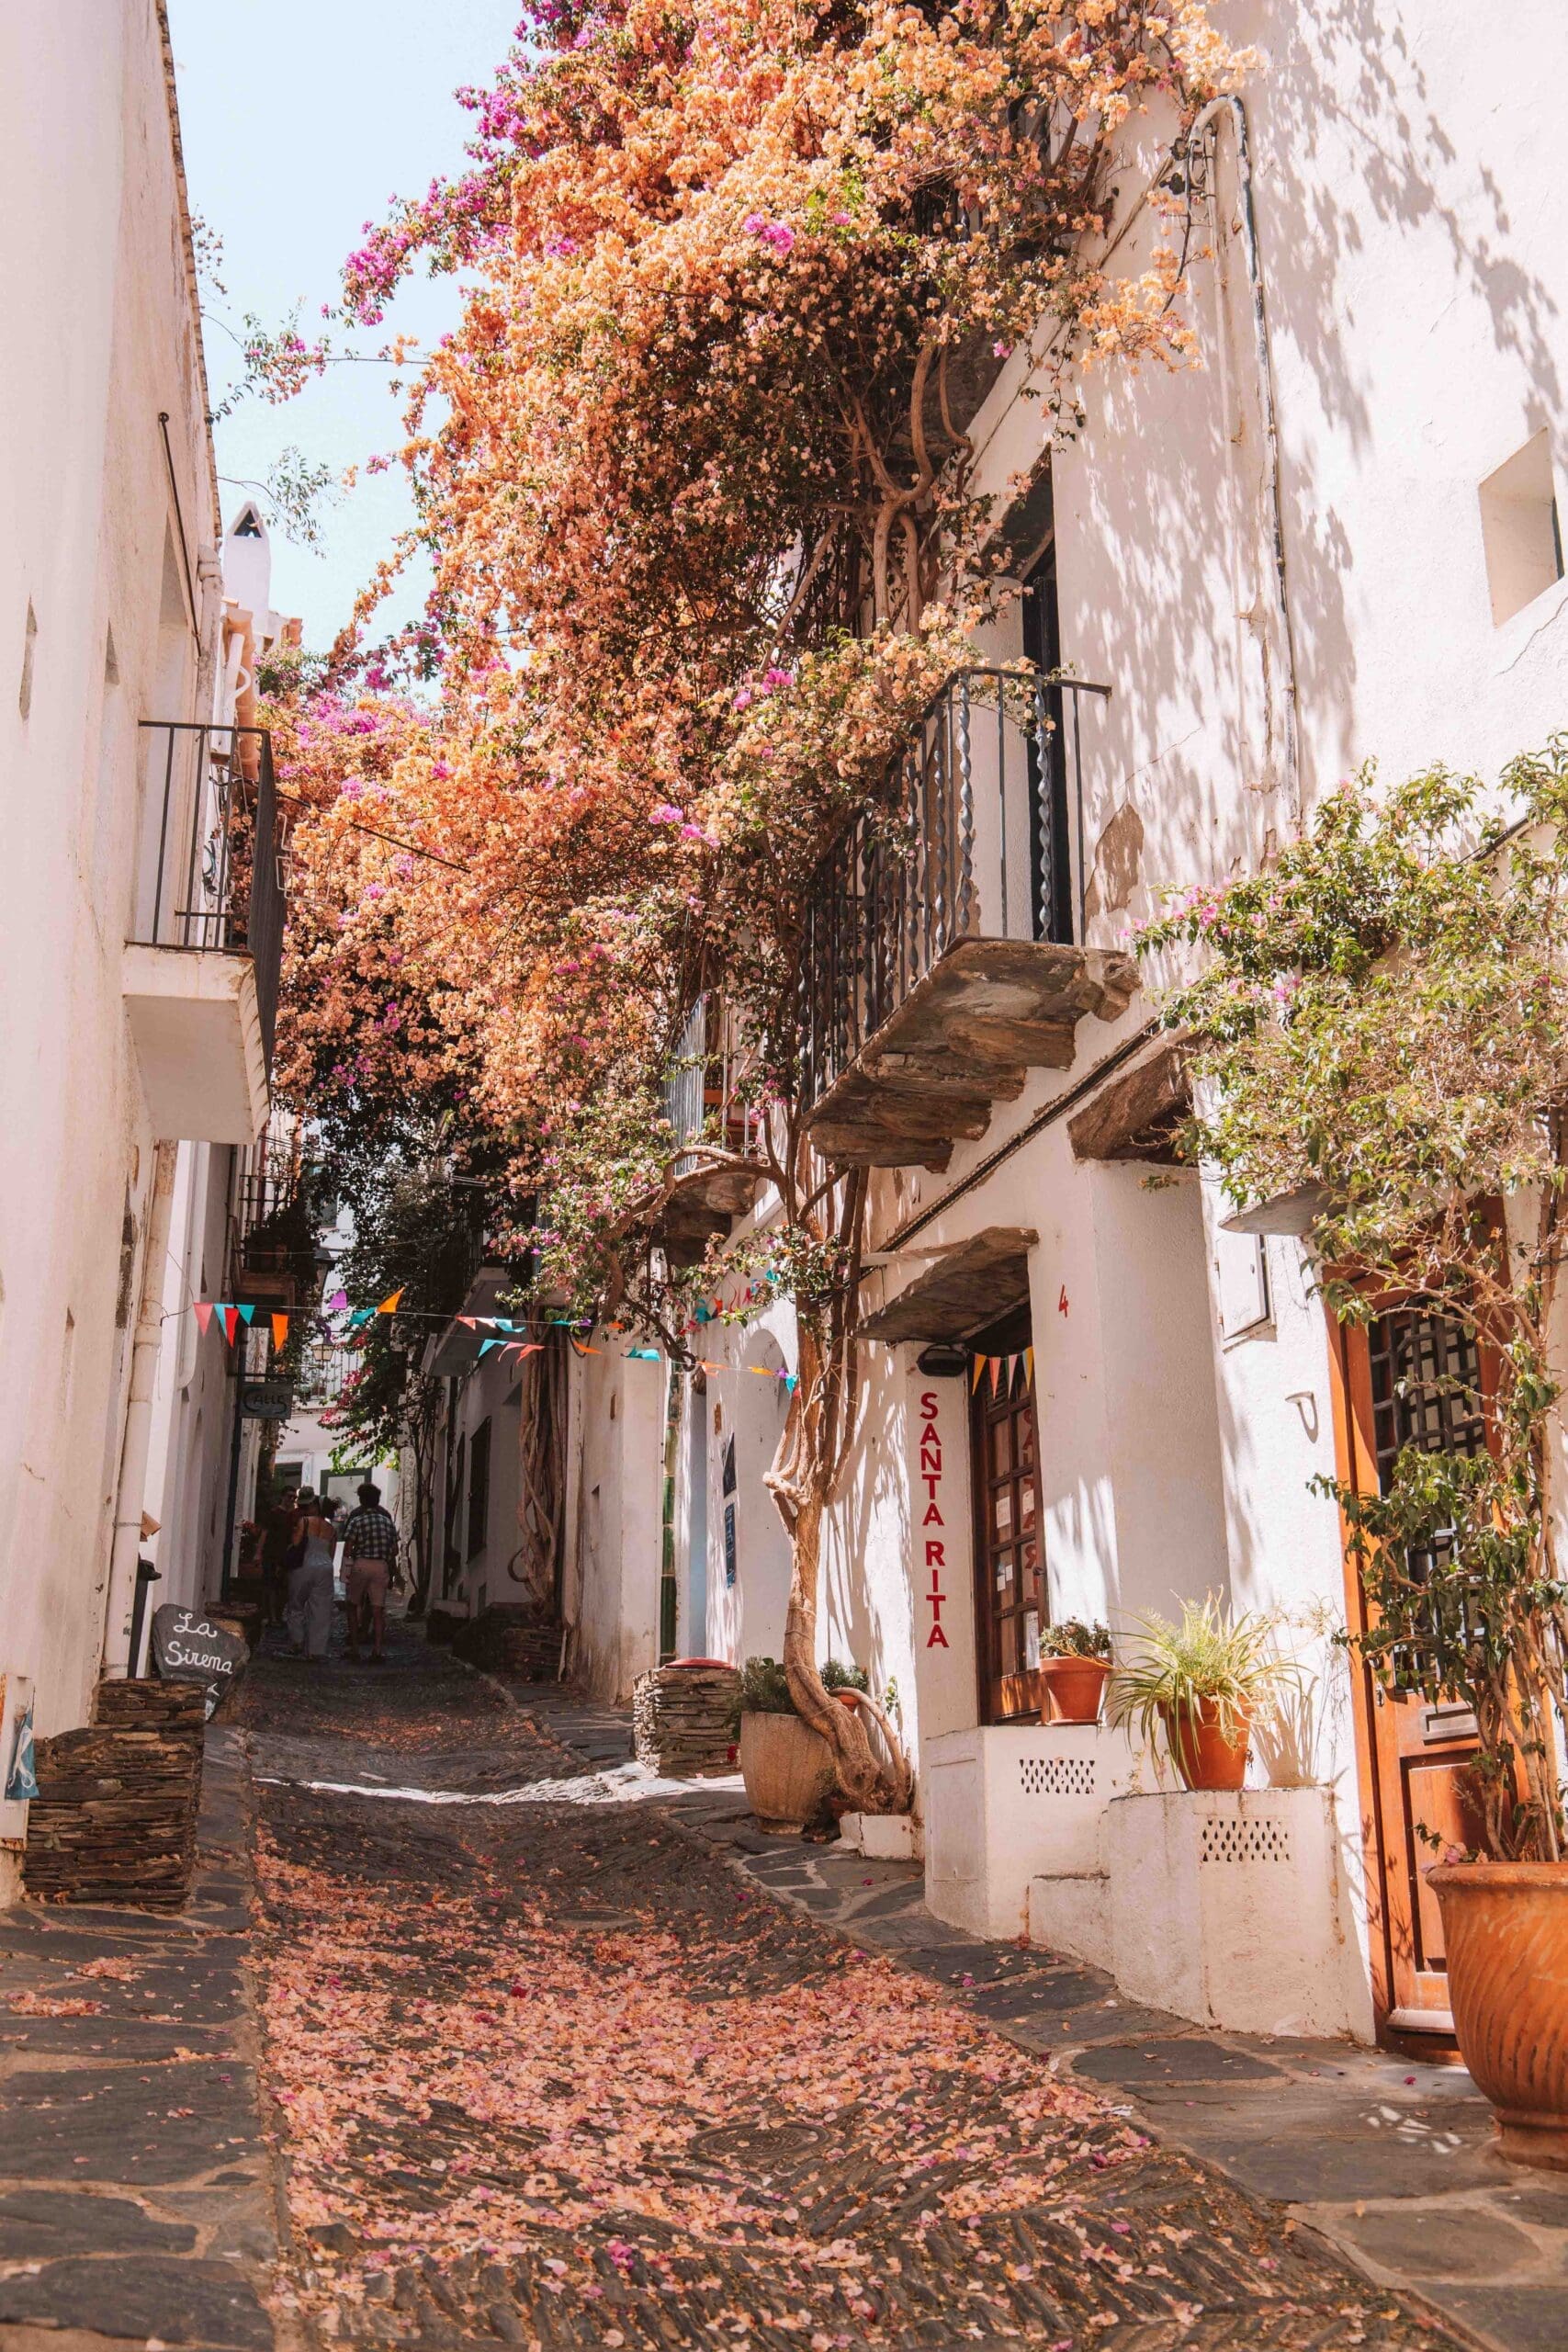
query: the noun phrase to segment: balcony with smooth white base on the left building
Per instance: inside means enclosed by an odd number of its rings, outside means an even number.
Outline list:
[[[254,1143],[268,1110],[282,960],[273,741],[143,722],[143,858],[125,1009],[153,1131]]]

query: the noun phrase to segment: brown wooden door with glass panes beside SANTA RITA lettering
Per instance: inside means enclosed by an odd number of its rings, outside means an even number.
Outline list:
[[[1027,1317],[1009,1319],[997,1331],[999,1341],[985,1336],[973,1343],[978,1378],[971,1392],[983,1724],[1039,1715],[1039,1635],[1048,1613]]]

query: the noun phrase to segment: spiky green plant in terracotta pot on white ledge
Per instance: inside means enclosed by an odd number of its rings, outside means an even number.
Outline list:
[[[1145,1743],[1164,1731],[1187,1788],[1241,1788],[1253,1722],[1295,1677],[1274,1649],[1272,1616],[1229,1616],[1211,1592],[1182,1602],[1180,1621],[1143,1616],[1133,1651],[1112,1670],[1110,1722]]]

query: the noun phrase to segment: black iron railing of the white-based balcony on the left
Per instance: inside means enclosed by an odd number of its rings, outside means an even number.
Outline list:
[[[273,739],[186,720],[143,720],[141,739],[158,833],[148,828],[132,941],[249,955],[270,1068],[284,917]]]

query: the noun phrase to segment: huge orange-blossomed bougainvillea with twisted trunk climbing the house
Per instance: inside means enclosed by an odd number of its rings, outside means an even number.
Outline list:
[[[536,0],[465,94],[470,169],[346,273],[364,325],[421,261],[465,275],[404,449],[442,689],[381,779],[402,849],[350,830],[355,776],[301,828],[294,1070],[374,1087],[418,993],[461,1073],[435,1084],[538,1197],[545,1279],[679,1352],[715,1270],[651,1249],[658,1096],[693,995],[724,993],[766,1117],[698,1150],[778,1188],[748,1287],[799,1310],[785,1663],[865,1804],[905,1776],[813,1661],[865,1181],[818,1164],[799,1101],[806,887],[851,814],[893,816],[896,753],[992,597],[987,386],[1023,346],[1048,440],[1081,365],[1187,358],[1173,245],[1131,280],[1105,259],[1110,158],[1138,115],[1159,181],[1237,71],[1201,0]]]

